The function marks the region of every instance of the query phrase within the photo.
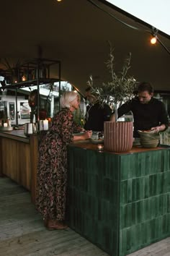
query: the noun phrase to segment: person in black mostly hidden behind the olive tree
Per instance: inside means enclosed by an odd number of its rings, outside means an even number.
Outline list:
[[[104,121],[109,121],[112,109],[106,104],[101,104],[95,95],[91,94],[91,88],[86,88],[86,100],[89,105],[86,107],[84,129],[96,132],[104,131]]]

